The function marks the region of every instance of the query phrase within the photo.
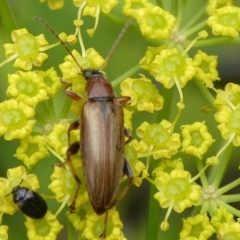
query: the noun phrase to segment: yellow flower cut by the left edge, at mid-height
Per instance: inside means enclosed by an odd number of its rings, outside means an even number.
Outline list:
[[[0,103],[0,136],[6,140],[24,138],[31,131],[35,120],[31,120],[35,110],[23,102],[15,99]]]

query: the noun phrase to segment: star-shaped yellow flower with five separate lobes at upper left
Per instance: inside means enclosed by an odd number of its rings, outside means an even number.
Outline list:
[[[42,34],[34,37],[23,28],[12,32],[12,40],[14,44],[4,44],[4,48],[7,58],[15,56],[14,67],[30,70],[32,65],[41,66],[48,57],[47,54],[41,53],[48,45]]]

